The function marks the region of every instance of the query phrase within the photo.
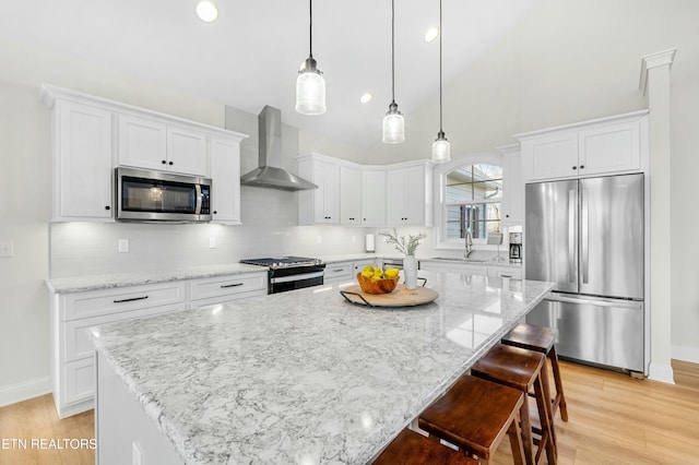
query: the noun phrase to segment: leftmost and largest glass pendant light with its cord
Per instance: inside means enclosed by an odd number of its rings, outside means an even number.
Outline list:
[[[301,115],[325,112],[325,80],[313,59],[313,2],[309,0],[309,44],[308,58],[301,63],[296,79],[296,111]]]

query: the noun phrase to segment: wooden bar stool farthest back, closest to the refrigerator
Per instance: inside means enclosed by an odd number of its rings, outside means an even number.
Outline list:
[[[501,343],[508,346],[521,347],[530,350],[546,354],[550,361],[550,369],[554,373],[556,384],[556,395],[553,398],[552,415],[556,416],[556,410],[560,406],[560,418],[568,421],[568,406],[564,394],[564,383],[560,379],[560,368],[558,367],[558,355],[556,355],[556,336],[558,331],[547,326],[536,326],[533,324],[520,324],[510,331]]]

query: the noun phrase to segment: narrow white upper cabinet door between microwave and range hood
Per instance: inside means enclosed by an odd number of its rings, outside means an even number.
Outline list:
[[[213,223],[240,224],[240,142],[211,138]]]

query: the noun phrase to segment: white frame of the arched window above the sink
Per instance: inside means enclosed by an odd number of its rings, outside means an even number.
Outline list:
[[[434,168],[434,199],[435,202],[435,249],[451,249],[451,250],[461,250],[464,248],[463,239],[448,239],[446,219],[447,219],[447,202],[446,202],[446,188],[447,188],[447,175],[462,166],[466,165],[478,165],[478,164],[487,164],[487,165],[497,165],[503,168],[502,176],[507,176],[505,174],[505,158],[501,154],[493,154],[493,153],[478,153],[465,155],[459,158],[452,158],[451,162],[435,165]],[[505,190],[502,191],[502,195],[507,195]],[[503,200],[500,199],[500,208],[502,208]],[[487,203],[487,202],[484,202]],[[502,230],[502,218],[500,217],[500,230]],[[487,237],[481,239],[474,239],[474,245],[477,245],[478,248],[482,249],[496,249],[495,246],[487,246]]]

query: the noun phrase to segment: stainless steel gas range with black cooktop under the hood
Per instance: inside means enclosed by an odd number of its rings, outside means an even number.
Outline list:
[[[284,293],[323,284],[325,264],[308,257],[271,257],[240,260],[240,263],[268,266],[268,294]]]

